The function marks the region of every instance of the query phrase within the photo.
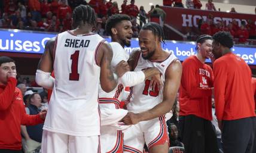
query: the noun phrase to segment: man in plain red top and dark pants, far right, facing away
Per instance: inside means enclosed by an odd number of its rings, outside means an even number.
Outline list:
[[[252,152],[255,134],[255,102],[251,70],[233,54],[233,38],[228,32],[213,36],[215,110],[223,132],[224,152]]]

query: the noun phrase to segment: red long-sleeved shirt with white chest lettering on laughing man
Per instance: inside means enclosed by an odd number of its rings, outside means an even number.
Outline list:
[[[196,115],[212,120],[212,68],[203,64],[195,55],[182,63],[179,88],[179,115]]]

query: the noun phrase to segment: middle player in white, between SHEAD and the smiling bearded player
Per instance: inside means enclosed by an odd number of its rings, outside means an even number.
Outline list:
[[[106,21],[106,32],[111,35],[110,43],[113,51],[111,67],[114,68],[120,61],[127,61],[129,54],[124,51],[124,46],[130,46],[132,38],[132,23],[130,17],[125,14],[115,14]],[[134,86],[144,82],[145,78],[159,75],[157,68],[150,68],[144,71],[127,71],[118,81],[118,86],[109,93],[99,90],[99,104],[101,120],[104,126],[100,127],[100,144],[102,152],[121,153],[123,152],[123,127],[118,127],[117,121],[120,121],[127,110],[120,108],[120,101],[123,98],[124,86]],[[109,111],[111,113],[109,113]],[[106,115],[105,115],[106,114]],[[108,118],[108,119],[106,119]],[[107,120],[107,123],[105,123]],[[116,121],[116,123],[114,122]],[[115,124],[113,124],[115,123]],[[116,127],[116,126],[117,127]]]

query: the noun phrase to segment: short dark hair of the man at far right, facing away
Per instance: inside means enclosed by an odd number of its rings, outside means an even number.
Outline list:
[[[234,45],[234,40],[230,32],[218,32],[218,33],[215,33],[214,36],[212,36],[212,38],[216,42],[219,42],[221,45],[227,48],[232,48]]]

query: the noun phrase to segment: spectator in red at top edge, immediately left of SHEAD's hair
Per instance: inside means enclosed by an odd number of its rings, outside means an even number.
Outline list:
[[[62,20],[66,17],[66,14],[72,14],[71,7],[68,5],[68,0],[60,0],[58,11],[57,11],[57,19],[62,22]]]

